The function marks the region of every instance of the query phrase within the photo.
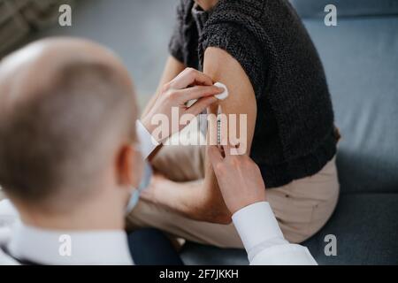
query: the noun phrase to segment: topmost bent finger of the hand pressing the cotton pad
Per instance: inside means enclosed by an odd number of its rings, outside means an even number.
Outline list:
[[[213,80],[202,72],[187,68],[170,83],[170,86],[176,89],[183,89],[192,85],[212,86]]]

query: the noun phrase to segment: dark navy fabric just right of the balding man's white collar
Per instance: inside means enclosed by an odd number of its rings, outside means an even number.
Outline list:
[[[172,243],[157,229],[130,233],[128,247],[136,265],[183,265]]]

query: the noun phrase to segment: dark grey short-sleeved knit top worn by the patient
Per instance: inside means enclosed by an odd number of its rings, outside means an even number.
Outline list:
[[[333,107],[318,52],[287,0],[219,0],[209,12],[181,0],[172,56],[201,69],[208,47],[236,58],[255,89],[250,156],[266,186],[319,172],[336,153]]]

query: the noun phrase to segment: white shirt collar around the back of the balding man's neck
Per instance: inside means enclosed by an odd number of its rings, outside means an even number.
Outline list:
[[[37,264],[134,264],[124,231],[55,231],[18,223],[8,249],[19,260]]]

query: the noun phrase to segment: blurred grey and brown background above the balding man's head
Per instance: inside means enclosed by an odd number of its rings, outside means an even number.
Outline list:
[[[178,0],[0,0],[0,57],[36,39],[72,35],[119,54],[143,106],[157,88],[167,57]],[[73,26],[57,23],[61,4]]]

